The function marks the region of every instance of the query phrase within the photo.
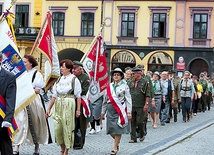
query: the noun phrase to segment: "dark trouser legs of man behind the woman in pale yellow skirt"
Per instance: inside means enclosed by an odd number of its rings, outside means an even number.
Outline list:
[[[75,119],[75,128],[74,128],[74,149],[82,149],[82,133],[80,131],[80,120],[79,118]]]

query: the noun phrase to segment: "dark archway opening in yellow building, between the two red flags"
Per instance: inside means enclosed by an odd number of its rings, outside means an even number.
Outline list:
[[[63,59],[70,59],[71,61],[74,61],[74,60],[80,61],[84,53],[78,49],[69,48],[69,49],[64,49],[60,51],[58,55],[59,55],[59,61]]]

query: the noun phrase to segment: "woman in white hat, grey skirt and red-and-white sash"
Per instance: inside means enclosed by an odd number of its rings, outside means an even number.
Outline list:
[[[107,113],[106,130],[114,139],[114,146],[111,155],[115,155],[119,150],[119,143],[122,134],[130,132],[132,99],[129,92],[129,86],[124,78],[124,73],[120,68],[111,72],[113,82],[106,88],[103,96],[103,105],[101,118],[104,119]]]

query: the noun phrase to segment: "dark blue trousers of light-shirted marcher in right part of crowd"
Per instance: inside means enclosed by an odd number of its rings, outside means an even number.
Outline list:
[[[186,121],[186,119],[189,120],[191,98],[190,97],[181,97],[181,105],[182,105],[183,121]]]

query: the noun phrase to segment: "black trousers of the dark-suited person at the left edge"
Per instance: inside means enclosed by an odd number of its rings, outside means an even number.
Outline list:
[[[13,155],[12,142],[8,135],[7,128],[1,128],[2,117],[0,117],[0,154]]]

